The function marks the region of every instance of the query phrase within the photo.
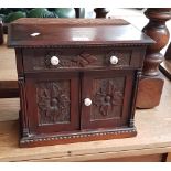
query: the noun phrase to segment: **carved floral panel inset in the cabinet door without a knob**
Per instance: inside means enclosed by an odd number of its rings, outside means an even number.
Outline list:
[[[70,121],[70,84],[64,81],[39,83],[38,106],[40,124]],[[65,90],[66,89],[66,90]]]

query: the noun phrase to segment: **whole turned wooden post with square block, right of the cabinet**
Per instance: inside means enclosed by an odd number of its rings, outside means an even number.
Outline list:
[[[149,23],[143,32],[156,41],[156,44],[147,49],[145,57],[142,78],[139,83],[137,97],[138,108],[152,108],[159,105],[163,88],[163,78],[159,72],[159,64],[163,61],[160,51],[169,41],[169,31],[165,22],[171,19],[171,9],[149,8],[145,11]]]

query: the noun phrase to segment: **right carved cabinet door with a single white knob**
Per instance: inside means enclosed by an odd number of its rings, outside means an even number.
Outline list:
[[[133,71],[85,72],[81,128],[128,127],[133,79]]]

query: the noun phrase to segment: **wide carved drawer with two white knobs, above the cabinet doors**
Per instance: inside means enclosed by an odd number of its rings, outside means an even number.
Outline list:
[[[54,70],[86,70],[104,67],[141,67],[143,49],[129,47],[66,47],[25,49],[25,72]]]

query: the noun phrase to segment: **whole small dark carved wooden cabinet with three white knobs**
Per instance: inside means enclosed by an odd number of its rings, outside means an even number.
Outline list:
[[[8,41],[17,54],[21,147],[136,136],[149,36],[124,20],[19,19]]]

